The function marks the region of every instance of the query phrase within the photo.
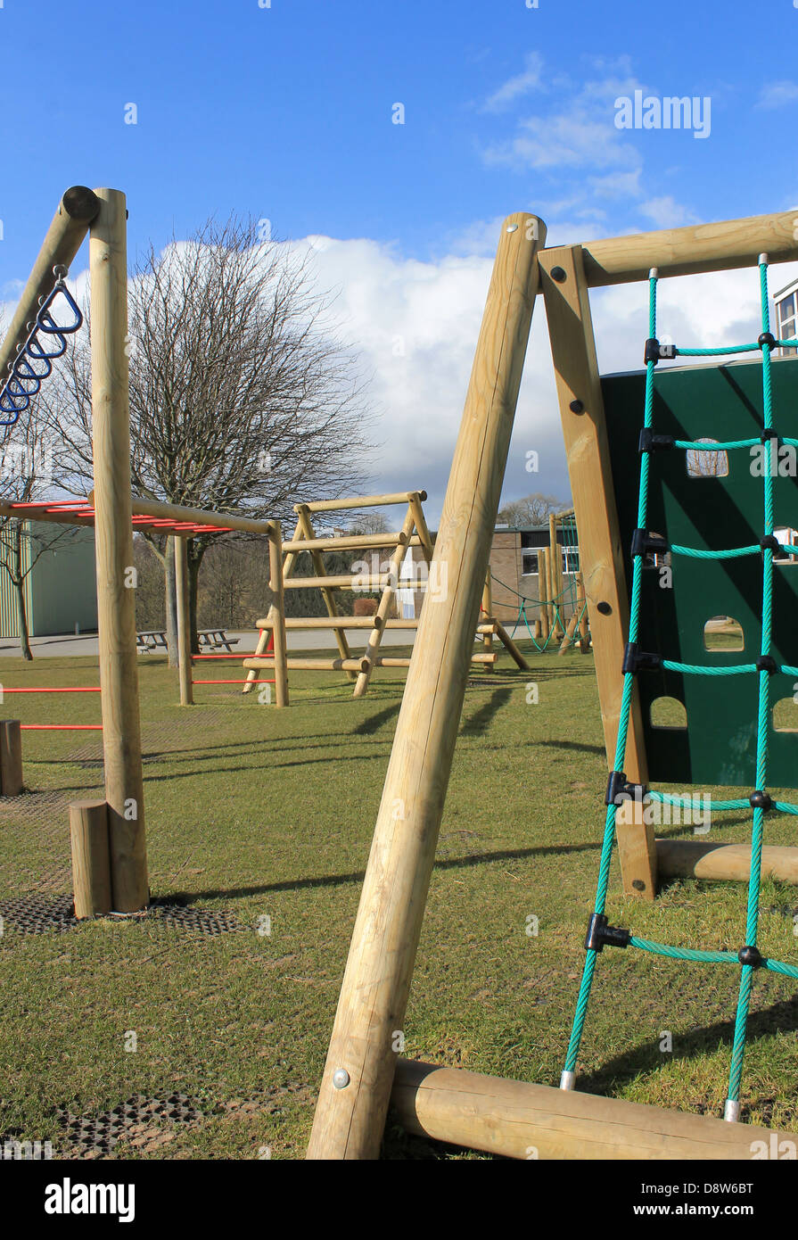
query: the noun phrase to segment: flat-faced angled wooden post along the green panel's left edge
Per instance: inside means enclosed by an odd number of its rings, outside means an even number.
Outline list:
[[[629,609],[581,246],[545,250],[540,254],[540,269],[579,529],[580,565],[594,639],[607,764],[612,769]],[[632,699],[626,754],[626,775],[634,784],[644,784],[648,773],[637,689]],[[657,894],[653,826],[643,822],[642,810],[633,801],[621,807],[616,826],[623,890],[653,900]]]

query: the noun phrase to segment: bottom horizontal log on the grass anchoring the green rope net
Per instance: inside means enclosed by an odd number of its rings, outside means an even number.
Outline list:
[[[623,1099],[399,1059],[390,1096],[408,1132],[504,1158],[750,1162],[771,1130]]]

